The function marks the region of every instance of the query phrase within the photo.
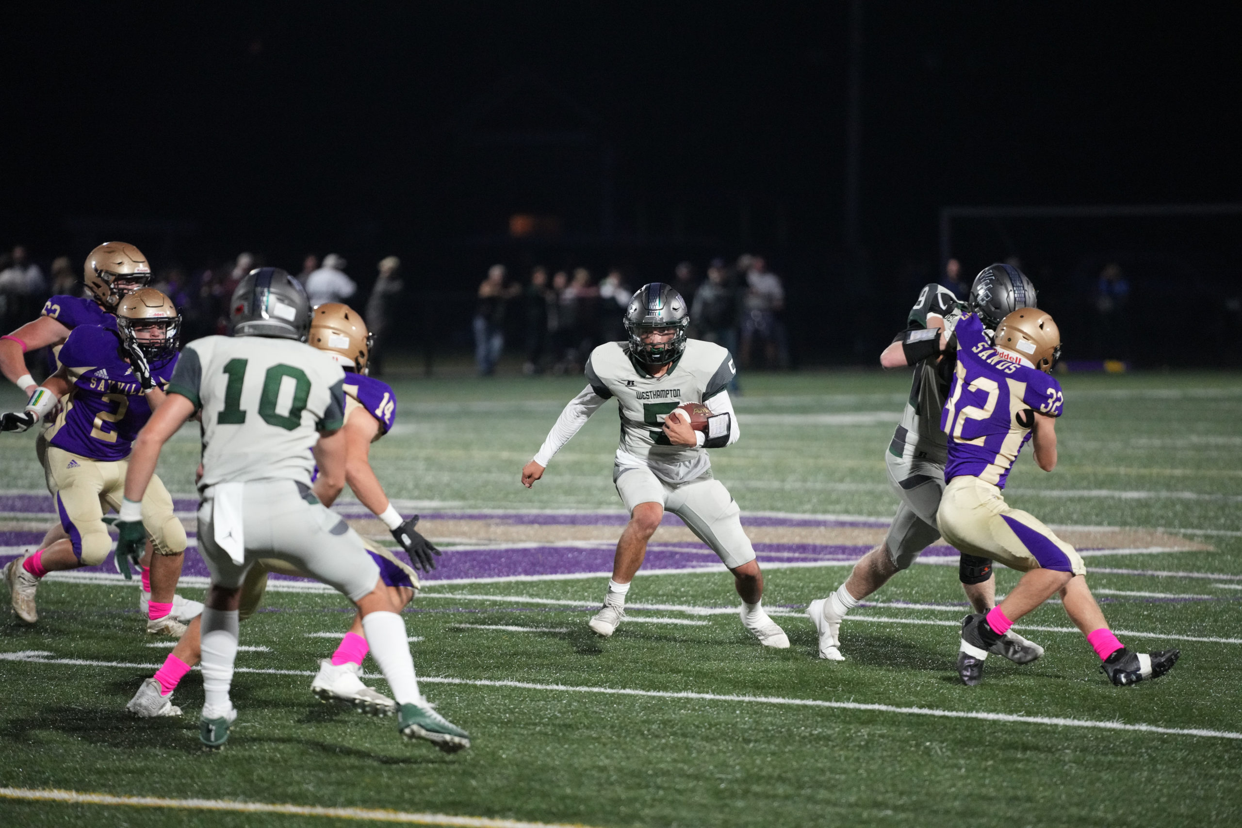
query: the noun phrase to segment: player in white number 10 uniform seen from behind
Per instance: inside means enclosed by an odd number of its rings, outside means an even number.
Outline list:
[[[274,557],[356,605],[371,655],[400,705],[401,735],[447,752],[469,747],[468,734],[419,691],[401,608],[363,540],[322,505],[345,483],[345,372],[304,344],[310,322],[306,292],[284,271],[265,267],[241,281],[229,307],[236,336],[206,336],[185,346],[168,398],[138,436],[117,523],[117,556],[140,554],[139,508],[160,448],[201,411],[199,552],[211,586],[201,626],[206,699],[199,739],[209,749],[229,739],[237,718],[230,685],[242,582],[260,559]]]

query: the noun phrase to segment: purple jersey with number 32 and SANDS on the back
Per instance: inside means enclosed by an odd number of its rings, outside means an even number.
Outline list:
[[[949,437],[944,479],[974,475],[1001,489],[1022,446],[1031,438],[1035,410],[1061,416],[1061,385],[1033,367],[1011,361],[984,335],[975,314],[958,323],[958,367],[940,430]],[[1023,426],[1018,418],[1028,425]]]

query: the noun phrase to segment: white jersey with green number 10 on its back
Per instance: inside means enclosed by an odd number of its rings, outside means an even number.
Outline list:
[[[319,432],[344,423],[345,372],[292,339],[205,336],[181,351],[169,382],[202,412],[202,479],[310,485]]]

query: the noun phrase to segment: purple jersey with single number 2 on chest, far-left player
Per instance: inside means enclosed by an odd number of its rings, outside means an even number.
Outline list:
[[[120,339],[98,325],[75,328],[61,348],[73,390],[48,431],[51,444],[93,461],[122,461],[152,410],[138,377],[118,354]],[[164,387],[180,355],[152,364],[152,377]]]

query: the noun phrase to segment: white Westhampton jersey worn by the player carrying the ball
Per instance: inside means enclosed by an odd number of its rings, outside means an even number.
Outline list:
[[[668,372],[653,377],[630,359],[627,343],[605,343],[586,360],[586,381],[604,397],[616,397],[621,415],[621,467],[645,466],[669,483],[699,477],[710,461],[707,449],[673,446],[661,431],[664,416],[683,402],[705,402],[724,391],[737,372],[724,348],[700,339],[686,340],[686,350]]]

